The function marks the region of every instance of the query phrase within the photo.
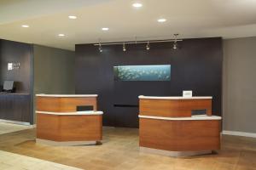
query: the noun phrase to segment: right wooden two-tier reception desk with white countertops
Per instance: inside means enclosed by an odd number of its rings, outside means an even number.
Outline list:
[[[139,96],[140,150],[192,156],[220,149],[221,117],[212,116],[212,97]],[[205,111],[205,115],[195,115]]]

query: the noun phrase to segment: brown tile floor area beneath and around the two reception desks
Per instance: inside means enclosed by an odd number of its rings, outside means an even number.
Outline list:
[[[36,129],[0,135],[0,150],[85,170],[256,170],[256,139],[224,135],[221,150],[173,158],[139,152],[137,128],[104,128],[101,145],[35,143]]]

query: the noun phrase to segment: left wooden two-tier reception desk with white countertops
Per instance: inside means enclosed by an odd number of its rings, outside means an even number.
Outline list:
[[[97,95],[37,94],[37,142],[52,145],[96,144],[102,140]],[[77,111],[92,106],[93,111]]]

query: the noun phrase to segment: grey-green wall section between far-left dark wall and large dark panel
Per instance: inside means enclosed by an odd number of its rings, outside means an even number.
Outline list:
[[[73,51],[33,46],[34,53],[34,88],[35,94],[74,94]],[[34,110],[36,102],[34,98]],[[36,116],[34,116],[34,122]]]

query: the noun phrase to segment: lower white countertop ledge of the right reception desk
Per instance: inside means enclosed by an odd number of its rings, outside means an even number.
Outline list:
[[[191,117],[163,117],[163,116],[142,116],[139,118],[159,119],[166,121],[207,121],[207,120],[221,120],[221,116],[191,116]]]

